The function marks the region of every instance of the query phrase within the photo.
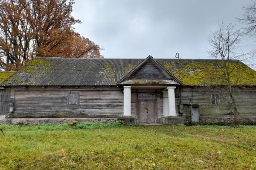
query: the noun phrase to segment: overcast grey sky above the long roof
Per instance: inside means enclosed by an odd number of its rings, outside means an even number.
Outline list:
[[[250,0],[75,0],[76,31],[103,46],[105,58],[207,58],[218,21],[237,23]],[[239,28],[241,25],[237,23]],[[245,52],[255,40],[243,40]]]

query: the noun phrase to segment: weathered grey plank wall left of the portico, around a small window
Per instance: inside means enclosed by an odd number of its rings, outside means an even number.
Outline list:
[[[79,92],[79,105],[68,105],[68,94]],[[122,116],[122,88],[11,88],[15,117]]]

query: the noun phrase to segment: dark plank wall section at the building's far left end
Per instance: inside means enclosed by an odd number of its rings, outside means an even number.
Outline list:
[[[0,90],[0,115],[6,115],[9,111],[10,89]]]

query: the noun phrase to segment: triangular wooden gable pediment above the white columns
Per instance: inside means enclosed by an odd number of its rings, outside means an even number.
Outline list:
[[[137,67],[130,71],[117,84],[174,84],[182,85],[179,79],[173,76],[153,57],[148,56]]]

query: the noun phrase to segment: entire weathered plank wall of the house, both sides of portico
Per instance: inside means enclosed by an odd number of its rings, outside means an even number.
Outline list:
[[[14,112],[10,117],[121,117],[123,115],[122,88],[116,87],[12,87],[0,91],[0,114],[9,111],[9,103],[14,102]],[[131,116],[137,118],[137,93],[156,93],[157,119],[163,116],[163,89],[132,89]],[[79,105],[68,105],[69,93],[79,93]],[[177,116],[184,122],[191,122],[191,105],[199,105],[199,120],[203,124],[229,124],[233,122],[230,99],[220,99],[219,105],[212,105],[210,95],[219,93],[217,89],[186,87],[175,89]],[[9,96],[10,94],[10,96]],[[241,124],[256,124],[256,88],[240,88],[236,91],[238,118]],[[179,111],[182,104],[183,113]]]

